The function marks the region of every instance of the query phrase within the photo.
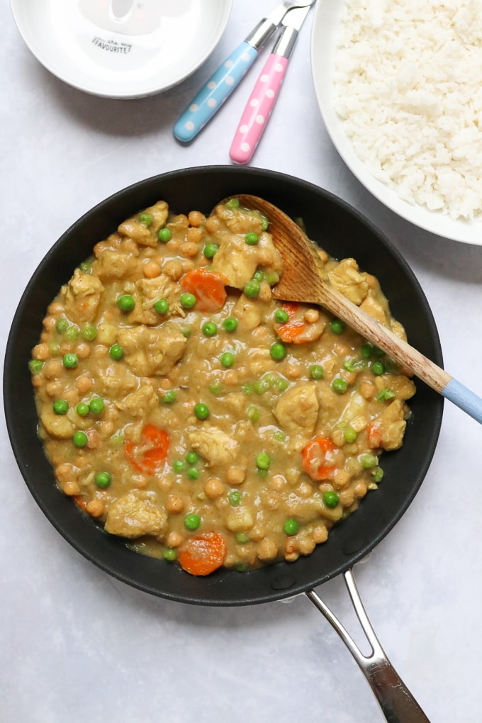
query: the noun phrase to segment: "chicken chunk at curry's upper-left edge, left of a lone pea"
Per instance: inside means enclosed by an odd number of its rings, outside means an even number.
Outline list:
[[[97,244],[94,253],[96,258],[92,269],[100,281],[134,277],[140,273],[141,261],[137,244],[119,234],[113,234],[107,241]]]

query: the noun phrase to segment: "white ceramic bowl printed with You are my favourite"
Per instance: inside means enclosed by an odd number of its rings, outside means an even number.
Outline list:
[[[233,0],[11,0],[22,38],[51,73],[107,98],[166,90],[210,55]]]

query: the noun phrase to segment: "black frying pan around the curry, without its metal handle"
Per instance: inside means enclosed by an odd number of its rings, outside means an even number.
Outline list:
[[[194,578],[176,565],[138,555],[121,539],[86,520],[72,500],[59,492],[36,434],[37,414],[28,370],[30,351],[38,341],[48,304],[75,266],[90,255],[94,244],[129,215],[160,199],[176,213],[194,209],[209,213],[216,202],[237,193],[264,197],[293,218],[302,218],[311,239],[332,256],[355,257],[363,270],[381,281],[392,314],[405,326],[410,343],[442,367],[434,318],[403,257],[360,213],[306,181],[257,168],[187,168],[140,181],[74,223],[40,262],[12,322],[4,364],[4,405],[14,455],[43,513],[88,560],[148,593],[194,604],[273,601],[311,591],[341,573],[349,582],[350,568],[387,535],[415,497],[429,469],[442,422],[442,397],[417,380],[403,447],[384,455],[384,479],[379,489],[369,493],[359,510],[333,529],[328,541],[309,557],[242,575],[218,570],[207,578]],[[311,601],[317,604],[313,597]],[[397,716],[388,719],[399,720]],[[412,716],[410,723],[415,720]]]

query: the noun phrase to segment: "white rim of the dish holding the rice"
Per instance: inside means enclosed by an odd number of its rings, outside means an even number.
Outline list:
[[[377,180],[358,158],[350,139],[343,131],[342,121],[332,106],[332,78],[335,51],[340,28],[343,1],[319,0],[315,6],[311,31],[311,72],[319,109],[327,132],[350,171],[387,208],[420,228],[438,236],[467,244],[482,245],[482,221],[453,221],[449,216],[411,205],[394,190]]]

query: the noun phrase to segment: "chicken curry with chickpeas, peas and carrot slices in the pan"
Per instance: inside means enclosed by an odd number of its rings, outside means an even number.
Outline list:
[[[374,276],[326,279],[404,336]],[[294,561],[382,481],[415,385],[319,307],[277,301],[267,219],[160,201],[53,299],[30,370],[59,488],[106,533],[193,575]]]

